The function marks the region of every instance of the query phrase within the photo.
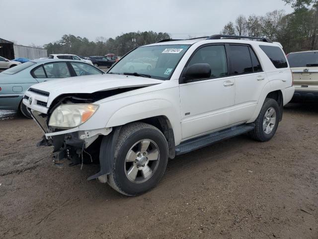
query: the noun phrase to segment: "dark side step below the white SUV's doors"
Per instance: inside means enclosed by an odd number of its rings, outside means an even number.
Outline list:
[[[231,138],[239,134],[254,129],[254,123],[240,124],[230,128],[226,128],[217,132],[205,134],[196,138],[188,139],[175,147],[175,155],[188,153],[190,151],[205,147],[223,139]]]

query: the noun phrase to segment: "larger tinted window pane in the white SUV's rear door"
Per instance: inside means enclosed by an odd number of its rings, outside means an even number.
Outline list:
[[[231,75],[253,73],[248,46],[230,45]]]

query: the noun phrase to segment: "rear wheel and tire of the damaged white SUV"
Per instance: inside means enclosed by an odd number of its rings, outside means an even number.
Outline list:
[[[248,135],[261,142],[270,140],[277,130],[279,115],[278,103],[274,99],[266,98],[262,109],[255,120],[255,128],[252,131],[249,131]]]

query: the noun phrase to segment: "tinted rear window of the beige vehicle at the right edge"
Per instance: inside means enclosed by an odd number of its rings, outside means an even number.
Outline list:
[[[298,52],[287,55],[290,67],[310,67],[318,64],[318,51]]]

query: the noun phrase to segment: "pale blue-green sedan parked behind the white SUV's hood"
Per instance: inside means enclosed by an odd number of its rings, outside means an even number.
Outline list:
[[[43,59],[32,60],[0,73],[0,110],[17,110],[31,118],[21,104],[24,92],[32,85],[58,78],[103,74],[98,68],[82,61]],[[37,104],[42,104],[38,99]]]

